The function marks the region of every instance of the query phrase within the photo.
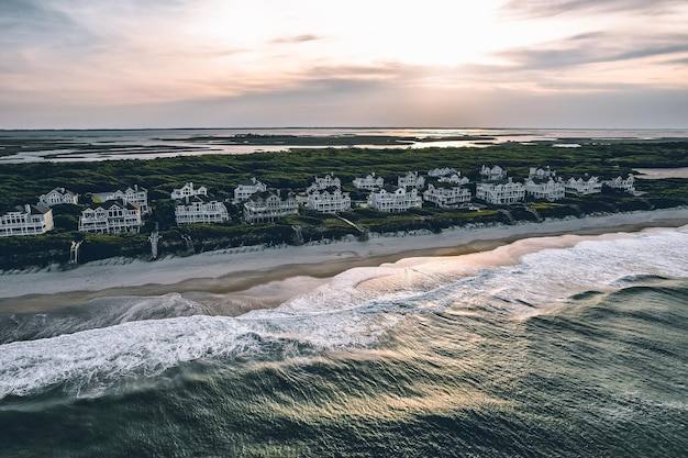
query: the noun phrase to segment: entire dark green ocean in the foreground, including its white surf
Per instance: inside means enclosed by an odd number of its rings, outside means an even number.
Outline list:
[[[0,316],[0,456],[686,456],[688,228],[518,243]]]

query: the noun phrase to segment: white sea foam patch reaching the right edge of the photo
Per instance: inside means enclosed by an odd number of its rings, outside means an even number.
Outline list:
[[[533,313],[562,304],[574,294],[613,291],[633,278],[687,278],[687,232],[646,233],[610,241],[580,242],[567,249],[544,249],[523,255],[519,264],[484,269],[455,283],[457,304],[469,303]]]

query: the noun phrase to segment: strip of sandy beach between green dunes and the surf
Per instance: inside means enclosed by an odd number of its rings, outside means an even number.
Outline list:
[[[232,293],[242,298],[248,309],[275,306],[354,267],[380,266],[404,258],[486,252],[532,237],[580,236],[563,242],[573,245],[601,234],[685,224],[688,224],[688,209],[672,209],[512,226],[457,228],[441,234],[374,236],[367,242],[248,247],[157,261],[107,259],[71,270],[5,271],[0,275],[0,313],[36,313],[96,298],[170,292]],[[528,253],[540,248],[523,249]],[[298,281],[287,283],[287,279]]]

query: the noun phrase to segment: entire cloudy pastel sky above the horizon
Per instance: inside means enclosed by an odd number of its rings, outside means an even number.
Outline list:
[[[688,127],[685,0],[0,0],[0,129]]]

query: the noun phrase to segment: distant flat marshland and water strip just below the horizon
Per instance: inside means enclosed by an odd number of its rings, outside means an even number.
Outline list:
[[[279,127],[0,131],[0,164],[37,160],[153,159],[323,147],[485,147],[513,143],[575,145],[686,139],[688,139],[688,129]]]

